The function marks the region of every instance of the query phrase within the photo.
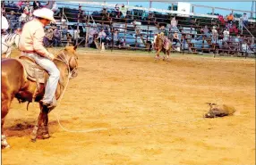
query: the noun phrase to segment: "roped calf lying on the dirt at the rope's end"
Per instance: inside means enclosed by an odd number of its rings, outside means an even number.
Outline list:
[[[217,103],[208,103],[209,111],[204,115],[205,118],[218,118],[235,115],[236,110],[233,106]]]

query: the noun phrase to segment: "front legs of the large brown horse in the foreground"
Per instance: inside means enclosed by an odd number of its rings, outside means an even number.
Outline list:
[[[40,114],[38,116],[38,125],[32,131],[31,141],[36,142],[37,138],[49,138],[48,133],[48,109],[40,104]]]

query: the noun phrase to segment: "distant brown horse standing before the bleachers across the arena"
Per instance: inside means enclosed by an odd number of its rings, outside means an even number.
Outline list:
[[[158,35],[158,37],[156,38],[156,45],[155,45],[155,49],[157,51],[155,60],[159,60],[159,54],[160,52],[163,52],[164,54],[167,54],[167,61],[168,61],[171,48],[172,48],[172,44],[170,40]],[[165,56],[163,60],[165,60]]]

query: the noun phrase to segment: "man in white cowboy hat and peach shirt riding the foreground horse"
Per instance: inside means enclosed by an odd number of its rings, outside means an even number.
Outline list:
[[[35,18],[25,23],[21,32],[20,49],[22,55],[32,58],[37,64],[49,73],[45,95],[40,101],[42,105],[55,107],[55,90],[60,78],[60,71],[53,60],[54,54],[47,52],[43,45],[45,37],[44,27],[51,21],[55,23],[54,12],[47,8],[41,8],[33,12]]]

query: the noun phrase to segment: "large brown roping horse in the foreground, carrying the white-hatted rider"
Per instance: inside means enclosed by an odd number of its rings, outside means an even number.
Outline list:
[[[59,99],[64,92],[64,83],[62,81],[67,78],[74,78],[77,76],[78,57],[75,52],[77,46],[66,46],[63,51],[55,56],[56,67],[60,70],[60,81],[56,89],[55,98]],[[10,109],[13,98],[17,98],[20,103],[24,102],[38,102],[43,98],[45,93],[45,80],[48,78],[48,74],[43,70],[42,79],[43,83],[38,83],[38,80],[32,80],[28,77],[24,65],[24,61],[33,62],[31,59],[4,59],[2,60],[2,148],[10,147],[4,136],[3,126],[4,119]],[[35,63],[32,63],[35,65]],[[66,74],[66,70],[69,70],[69,75]],[[45,81],[46,82],[46,81]],[[32,141],[35,142],[37,138],[48,138],[48,112],[54,108],[48,109],[45,105],[39,104],[40,113],[38,116],[37,126],[34,127],[32,132]]]

